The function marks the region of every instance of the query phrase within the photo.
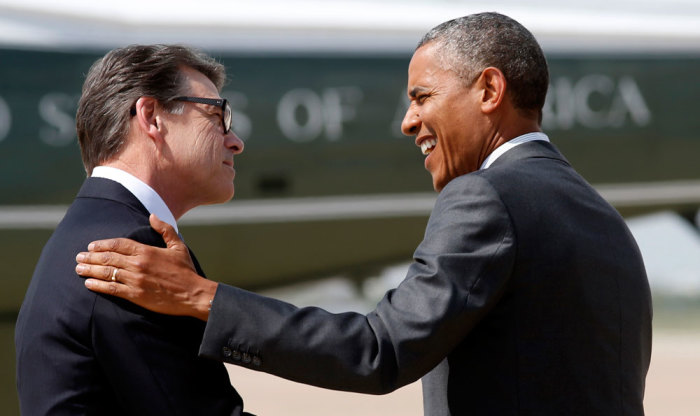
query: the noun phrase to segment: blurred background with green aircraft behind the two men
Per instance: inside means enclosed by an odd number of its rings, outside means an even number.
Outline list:
[[[399,130],[413,49],[445,20],[498,11],[547,55],[545,132],[642,250],[655,304],[647,414],[700,414],[700,1],[426,3],[0,0],[0,412],[19,414],[17,312],[85,176],[74,114],[97,58],[184,43],[223,62],[246,142],[236,197],[188,213],[183,235],[212,279],[362,312],[403,278],[435,201]],[[229,370],[258,414],[422,414],[419,384],[375,397]]]

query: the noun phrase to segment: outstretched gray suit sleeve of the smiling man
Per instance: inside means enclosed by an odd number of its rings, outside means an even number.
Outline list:
[[[374,311],[331,314],[219,285],[200,354],[324,388],[391,392],[435,367],[498,302],[514,238],[495,190],[456,178],[406,278]]]

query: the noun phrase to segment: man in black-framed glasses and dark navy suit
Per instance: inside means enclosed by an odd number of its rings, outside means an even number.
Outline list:
[[[96,238],[165,247],[149,214],[176,226],[233,196],[243,143],[219,98],[224,80],[221,64],[170,45],[116,49],[90,69],[76,117],[90,177],[44,247],[17,320],[22,414],[242,414],[223,364],[198,357],[202,321],[86,291],[75,274],[76,254]]]

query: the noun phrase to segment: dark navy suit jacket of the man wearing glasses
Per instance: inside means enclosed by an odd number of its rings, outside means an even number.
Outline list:
[[[197,355],[203,322],[85,288],[75,256],[90,241],[120,236],[163,246],[129,191],[87,179],[44,247],[19,312],[22,414],[241,414],[224,366]]]

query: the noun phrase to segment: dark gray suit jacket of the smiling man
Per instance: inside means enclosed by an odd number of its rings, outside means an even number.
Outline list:
[[[651,297],[623,219],[536,141],[440,192],[373,312],[221,285],[200,353],[372,394],[425,376],[426,415],[642,415]]]

